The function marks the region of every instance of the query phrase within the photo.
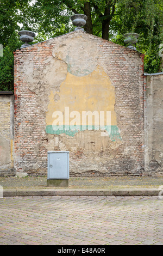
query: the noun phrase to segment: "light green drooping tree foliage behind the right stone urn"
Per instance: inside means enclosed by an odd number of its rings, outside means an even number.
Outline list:
[[[116,31],[116,36],[113,36],[112,41],[124,45],[124,33],[138,33],[140,37],[136,48],[145,54],[145,72],[161,71],[158,53],[163,41],[162,0],[122,1],[116,10],[117,17],[121,17],[121,20],[114,17],[111,29]]]

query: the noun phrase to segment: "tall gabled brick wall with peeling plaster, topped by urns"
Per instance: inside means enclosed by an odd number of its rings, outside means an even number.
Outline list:
[[[111,136],[53,132],[54,110],[93,104],[111,109]],[[142,175],[143,144],[143,54],[83,32],[15,52],[17,172],[46,175],[47,151],[68,150],[70,175]]]

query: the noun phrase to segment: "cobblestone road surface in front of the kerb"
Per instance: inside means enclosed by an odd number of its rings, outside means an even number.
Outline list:
[[[159,197],[0,199],[0,245],[163,245]]]

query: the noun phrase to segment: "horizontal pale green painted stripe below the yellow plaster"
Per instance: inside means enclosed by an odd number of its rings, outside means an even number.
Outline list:
[[[79,125],[79,126],[76,126],[75,130],[73,130],[68,125],[60,125],[60,126],[47,125],[46,126],[46,133],[57,134],[57,135],[65,133],[66,135],[71,137],[74,137],[76,133],[78,133],[79,131],[85,131],[85,130],[90,130],[90,131],[97,130],[97,127],[95,129],[95,126],[91,126],[91,125],[86,125],[84,127],[82,125]],[[119,129],[116,125],[111,125],[111,131],[110,131],[110,126],[104,126],[103,129],[100,129],[100,130],[108,131],[110,134],[109,137],[111,138],[111,141],[117,141],[120,139],[122,140]]]

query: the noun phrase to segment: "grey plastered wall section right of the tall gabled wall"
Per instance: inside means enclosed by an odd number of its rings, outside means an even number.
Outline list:
[[[163,174],[163,73],[145,76],[145,173]]]

